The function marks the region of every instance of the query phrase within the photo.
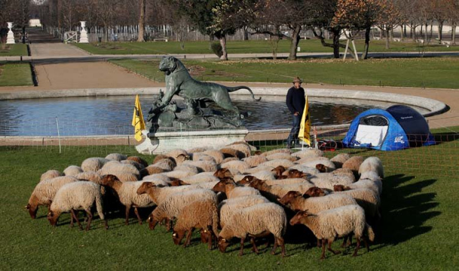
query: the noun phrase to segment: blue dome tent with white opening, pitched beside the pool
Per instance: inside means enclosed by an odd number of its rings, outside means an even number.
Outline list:
[[[435,144],[425,118],[404,105],[370,109],[358,115],[343,139],[345,147],[367,147],[397,151],[408,147]]]

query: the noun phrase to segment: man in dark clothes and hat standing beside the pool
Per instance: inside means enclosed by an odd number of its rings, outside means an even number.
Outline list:
[[[304,89],[301,87],[301,83],[303,83],[303,81],[296,77],[293,80],[293,87],[291,87],[287,92],[286,104],[293,115],[293,126],[292,130],[290,130],[289,137],[287,138],[287,148],[290,148],[292,144],[294,146],[299,145],[298,132],[304,105],[306,104]]]

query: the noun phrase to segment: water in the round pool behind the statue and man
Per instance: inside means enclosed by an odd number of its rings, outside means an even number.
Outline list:
[[[145,118],[155,98],[155,95],[140,97]],[[56,136],[58,125],[63,136],[132,134],[134,99],[134,96],[92,96],[0,101],[0,135]],[[252,102],[248,96],[232,96],[232,100],[241,111],[251,112],[246,119],[249,130],[291,127],[292,120],[284,96],[263,96],[261,102]],[[184,106],[183,100],[175,101]],[[343,124],[369,108],[391,105],[362,100],[310,98],[311,122],[313,125]]]

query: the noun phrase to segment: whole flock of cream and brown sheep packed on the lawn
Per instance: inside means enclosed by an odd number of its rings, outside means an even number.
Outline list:
[[[201,241],[212,249],[214,243],[225,252],[234,237],[240,238],[240,255],[249,240],[258,253],[257,241],[273,240],[285,256],[284,238],[296,224],[305,225],[322,247],[321,259],[337,237],[343,247],[355,236],[356,256],[363,241],[374,239],[370,225],[380,218],[380,194],[384,170],[377,157],[338,154],[328,159],[319,150],[292,153],[277,149],[253,152],[245,142],[220,149],[176,149],[157,155],[148,164],[137,156],[109,154],[93,157],[80,166],[71,165],[62,173],[42,174],[25,207],[32,218],[38,207],[48,207],[47,218],[57,224],[63,212],[70,212],[82,228],[79,210],[85,212],[90,229],[94,209],[108,229],[106,213],[125,207],[125,224],[131,208],[142,219],[138,208],[156,206],[148,216],[153,230],[164,223],[175,244],[200,230]],[[288,225],[290,224],[290,225]],[[274,239],[272,239],[274,237]],[[346,242],[348,240],[348,242]],[[314,241],[315,242],[315,241]]]

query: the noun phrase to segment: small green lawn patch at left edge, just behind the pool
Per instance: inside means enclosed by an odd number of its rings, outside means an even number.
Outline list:
[[[33,85],[29,63],[0,63],[0,87]]]

